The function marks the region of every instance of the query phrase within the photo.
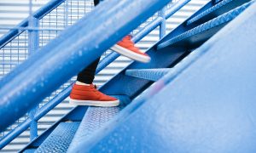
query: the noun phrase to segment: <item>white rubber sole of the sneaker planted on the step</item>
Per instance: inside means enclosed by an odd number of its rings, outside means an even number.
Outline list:
[[[119,100],[102,102],[102,101],[93,101],[93,100],[69,99],[69,104],[90,105],[90,106],[97,106],[97,107],[114,107],[119,105]]]

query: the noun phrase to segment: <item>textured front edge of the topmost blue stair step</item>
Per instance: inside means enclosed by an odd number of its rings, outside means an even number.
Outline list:
[[[197,21],[197,20],[201,20],[202,18],[206,17],[209,14],[214,13],[215,11],[217,11],[220,8],[224,8],[226,7],[225,10],[230,10],[232,8],[236,8],[238,6],[240,6],[242,3],[247,3],[250,0],[224,0],[216,5],[214,5],[212,8],[207,9],[206,11],[202,12],[201,14],[196,15],[195,17],[193,17],[192,19],[188,20],[187,25],[192,24],[193,22]],[[217,14],[217,13],[216,13]],[[220,14],[220,13],[218,13]],[[205,20],[207,21],[207,20]]]

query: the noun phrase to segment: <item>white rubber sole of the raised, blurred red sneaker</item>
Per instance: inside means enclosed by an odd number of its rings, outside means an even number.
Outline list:
[[[127,48],[123,48],[117,44],[113,45],[113,47],[111,48],[113,51],[124,55],[125,57],[128,57],[130,59],[134,59],[143,63],[148,63],[150,61],[150,57],[148,56],[144,56],[142,54],[136,54],[134,52],[132,52],[131,50],[127,49]]]

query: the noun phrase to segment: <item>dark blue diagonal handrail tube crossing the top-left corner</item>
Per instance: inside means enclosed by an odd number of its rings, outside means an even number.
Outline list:
[[[52,0],[49,3],[45,4],[43,8],[38,9],[38,11],[35,12],[32,16],[39,20],[43,18],[45,14],[48,14],[51,10],[58,7],[63,2],[65,2],[65,0]],[[30,17],[26,18],[26,20],[21,21],[20,24],[16,27],[22,28],[22,27],[28,26],[29,20],[30,20]],[[7,34],[5,34],[3,37],[0,38],[0,48],[3,48],[4,45],[9,43],[11,40],[13,40],[23,31],[24,30],[17,30],[17,29],[9,31]]]

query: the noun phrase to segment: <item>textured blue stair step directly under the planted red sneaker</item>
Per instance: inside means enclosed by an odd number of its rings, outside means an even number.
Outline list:
[[[79,129],[75,133],[68,150],[75,149],[79,142],[88,139],[91,133],[94,133],[96,130],[100,129],[103,125],[110,121],[113,116],[116,116],[119,111],[124,108],[124,105],[131,102],[131,99],[125,95],[112,96],[119,99],[121,104],[118,107],[89,107],[85,112],[84,118],[80,123]]]

